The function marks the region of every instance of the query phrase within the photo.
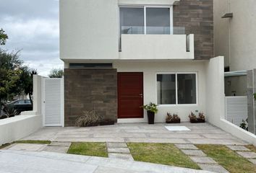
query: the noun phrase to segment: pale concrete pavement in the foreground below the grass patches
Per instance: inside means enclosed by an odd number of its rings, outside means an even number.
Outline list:
[[[0,151],[1,173],[210,173],[124,159],[78,156],[52,152]]]

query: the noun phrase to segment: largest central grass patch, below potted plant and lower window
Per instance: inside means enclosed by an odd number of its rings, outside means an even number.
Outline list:
[[[127,143],[136,161],[200,169],[172,143]]]

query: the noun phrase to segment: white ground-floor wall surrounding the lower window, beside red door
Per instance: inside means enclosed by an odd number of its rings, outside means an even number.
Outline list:
[[[197,72],[197,105],[161,105],[155,115],[155,122],[165,122],[167,112],[177,113],[183,122],[189,121],[189,113],[195,110],[205,112],[205,62],[139,62],[139,61],[116,61],[114,68],[118,72],[143,72],[144,104],[157,102],[156,74],[159,72]],[[119,119],[119,123],[146,123],[148,117],[144,112],[141,119]]]

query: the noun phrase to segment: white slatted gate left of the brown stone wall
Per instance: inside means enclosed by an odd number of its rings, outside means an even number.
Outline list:
[[[64,126],[64,79],[43,79],[43,126]]]

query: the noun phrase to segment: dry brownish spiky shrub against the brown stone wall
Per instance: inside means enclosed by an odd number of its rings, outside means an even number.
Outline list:
[[[84,115],[77,117],[75,125],[77,127],[88,127],[98,125],[101,121],[101,117],[95,112],[95,110],[86,110]]]

